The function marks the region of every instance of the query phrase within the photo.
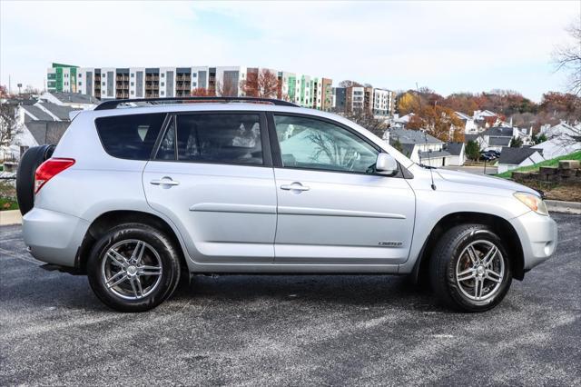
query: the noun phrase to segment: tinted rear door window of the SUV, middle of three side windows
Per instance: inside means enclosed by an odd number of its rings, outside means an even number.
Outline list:
[[[180,114],[163,136],[158,160],[262,164],[259,114]]]

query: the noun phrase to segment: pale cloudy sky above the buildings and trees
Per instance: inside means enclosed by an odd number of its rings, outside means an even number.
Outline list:
[[[0,84],[81,67],[247,65],[439,94],[566,91],[551,53],[581,1],[0,0]]]

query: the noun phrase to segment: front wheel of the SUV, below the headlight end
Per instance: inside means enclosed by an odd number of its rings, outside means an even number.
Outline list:
[[[503,273],[501,278],[493,281],[487,277],[486,268],[481,268],[484,264],[472,263],[468,253],[469,245],[477,249],[477,261],[484,258],[486,248],[492,249],[492,245],[497,247],[499,254],[491,254],[495,257],[491,264],[496,265],[497,272]],[[465,275],[474,274],[475,279],[462,280],[463,277],[459,276],[458,280],[457,270],[460,274],[469,271]],[[483,270],[485,274],[481,273]],[[507,249],[489,227],[483,224],[461,224],[450,229],[438,242],[430,258],[429,277],[434,293],[449,308],[462,312],[484,312],[494,308],[507,294],[512,283],[512,264]],[[478,281],[481,281],[480,285]],[[470,283],[473,284],[471,290]],[[483,294],[481,299],[476,297],[478,292]]]

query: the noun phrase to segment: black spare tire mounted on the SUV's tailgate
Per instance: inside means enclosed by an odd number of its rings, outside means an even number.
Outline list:
[[[36,168],[51,158],[54,145],[40,145],[29,148],[20,158],[16,172],[16,200],[23,215],[34,207],[34,173]]]

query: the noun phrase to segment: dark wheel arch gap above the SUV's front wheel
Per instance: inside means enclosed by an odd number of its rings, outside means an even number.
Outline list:
[[[515,228],[506,219],[490,213],[458,212],[448,213],[434,225],[428,238],[422,245],[418,259],[411,273],[414,283],[421,283],[428,278],[430,253],[436,247],[439,238],[452,226],[465,223],[478,223],[489,226],[505,243],[513,263],[513,278],[522,280],[525,277],[525,260],[522,245]]]

